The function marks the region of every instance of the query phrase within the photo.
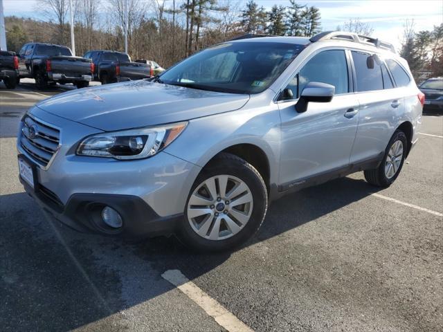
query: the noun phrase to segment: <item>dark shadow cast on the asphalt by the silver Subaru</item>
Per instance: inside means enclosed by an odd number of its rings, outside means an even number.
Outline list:
[[[285,196],[271,205],[260,231],[242,248],[373,192],[365,181],[341,178]],[[67,331],[106,322],[114,313],[171,291],[173,286],[161,278],[165,270],[179,269],[195,279],[231,255],[195,253],[174,237],[131,242],[81,234],[48,221],[25,193],[0,196],[0,221],[3,331]]]

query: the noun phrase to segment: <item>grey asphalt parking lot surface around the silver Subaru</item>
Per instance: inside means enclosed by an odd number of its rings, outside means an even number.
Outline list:
[[[302,190],[240,250],[197,255],[174,238],[80,234],[24,193],[17,122],[64,89],[0,84],[2,331],[225,331],[168,270],[253,331],[443,331],[443,116],[423,117],[387,190],[362,173]]]

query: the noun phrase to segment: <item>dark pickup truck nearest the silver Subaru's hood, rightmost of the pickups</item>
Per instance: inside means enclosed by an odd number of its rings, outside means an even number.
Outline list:
[[[127,53],[113,50],[89,50],[83,55],[94,64],[93,80],[102,84],[142,80],[152,77],[153,68],[149,64],[131,62]]]

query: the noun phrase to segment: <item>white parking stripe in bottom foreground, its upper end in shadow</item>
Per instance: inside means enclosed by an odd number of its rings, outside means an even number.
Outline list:
[[[196,284],[190,282],[180,270],[167,270],[161,276],[163,279],[168,280],[168,282],[179,288],[181,292],[192,299],[192,301],[210,315],[210,317],[213,317],[217,324],[227,331],[253,332],[249,326],[227,311],[224,306],[219,304],[219,302],[202,291]]]

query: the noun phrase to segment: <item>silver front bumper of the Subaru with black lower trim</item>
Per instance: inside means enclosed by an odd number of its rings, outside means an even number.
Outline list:
[[[54,116],[38,107],[30,113],[60,128],[60,149],[48,167],[39,167],[19,144],[17,150],[34,172],[35,190],[26,192],[55,219],[82,232],[149,237],[171,234],[181,219],[192,183],[201,167],[164,151],[141,160],[114,160],[75,155],[79,139],[98,129]],[[19,130],[21,130],[20,124]],[[123,218],[118,231],[103,227],[105,205]]]

